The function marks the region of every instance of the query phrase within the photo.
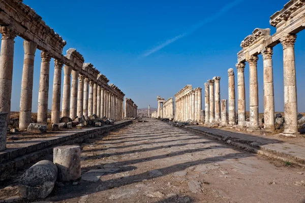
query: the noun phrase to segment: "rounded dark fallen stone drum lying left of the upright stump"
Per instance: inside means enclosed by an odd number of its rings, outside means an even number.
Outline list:
[[[56,165],[49,160],[39,161],[22,175],[19,195],[28,200],[45,198],[52,192],[56,179]]]

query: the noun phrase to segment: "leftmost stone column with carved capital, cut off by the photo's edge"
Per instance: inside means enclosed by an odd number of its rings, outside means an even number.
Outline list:
[[[10,26],[1,26],[0,53],[0,112],[7,113],[7,124],[10,123],[11,95],[13,79],[14,39],[17,31]]]

